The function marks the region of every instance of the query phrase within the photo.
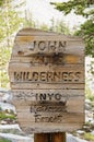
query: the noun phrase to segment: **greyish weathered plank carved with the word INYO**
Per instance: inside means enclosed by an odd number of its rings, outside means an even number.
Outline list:
[[[51,105],[50,103],[52,103],[54,105],[59,105],[61,103],[62,106],[66,103],[71,110],[75,109],[79,111],[79,109],[82,110],[83,108],[80,108],[82,106],[81,103],[83,104],[84,100],[83,90],[15,90],[12,94],[13,103],[20,106],[24,106],[25,104],[35,105],[36,108],[37,105],[39,107],[40,105],[45,106],[45,104]]]

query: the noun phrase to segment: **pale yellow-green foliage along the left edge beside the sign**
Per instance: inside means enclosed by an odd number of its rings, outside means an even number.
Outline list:
[[[0,86],[7,87],[8,62],[10,60],[11,50],[14,43],[14,35],[20,29],[24,19],[20,17],[20,13],[14,9],[13,0],[5,0],[0,8]],[[21,3],[20,3],[21,5]]]

